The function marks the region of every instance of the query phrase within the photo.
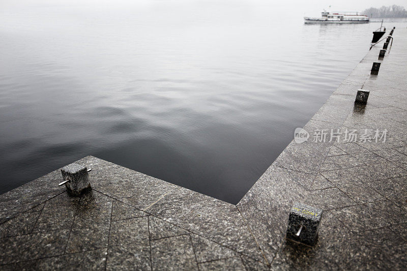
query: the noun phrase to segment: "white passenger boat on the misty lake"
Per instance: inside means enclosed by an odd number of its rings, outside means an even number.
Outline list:
[[[321,12],[322,17],[304,17],[305,23],[366,23],[369,17],[358,12]]]

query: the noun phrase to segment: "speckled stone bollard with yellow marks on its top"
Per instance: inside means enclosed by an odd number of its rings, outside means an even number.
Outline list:
[[[285,237],[307,246],[314,246],[318,237],[322,213],[322,209],[301,203],[294,204],[288,216],[288,227]]]

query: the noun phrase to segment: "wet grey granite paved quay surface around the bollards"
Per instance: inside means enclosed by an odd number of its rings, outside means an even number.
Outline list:
[[[0,268],[405,269],[407,29],[393,36],[379,74],[369,75],[383,44],[307,123],[308,141],[290,143],[237,205],[85,157],[91,194],[69,197],[56,170],[0,195]],[[354,104],[359,88],[366,106]],[[325,142],[313,142],[318,129]],[[385,142],[359,141],[385,129]],[[295,202],[324,209],[314,248],[284,238]]]

